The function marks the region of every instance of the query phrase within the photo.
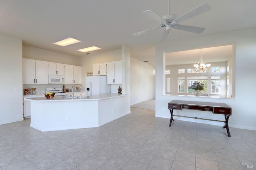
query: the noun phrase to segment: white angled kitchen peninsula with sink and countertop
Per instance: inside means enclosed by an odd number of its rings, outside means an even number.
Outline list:
[[[30,126],[39,131],[100,127],[128,113],[122,108],[126,94],[63,98],[25,98],[31,102]]]

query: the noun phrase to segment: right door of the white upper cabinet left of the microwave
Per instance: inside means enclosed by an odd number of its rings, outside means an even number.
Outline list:
[[[48,84],[48,63],[36,61],[36,84]]]

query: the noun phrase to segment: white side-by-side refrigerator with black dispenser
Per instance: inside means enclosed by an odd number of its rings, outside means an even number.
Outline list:
[[[110,84],[107,84],[107,76],[86,76],[85,90],[86,96],[110,93]]]

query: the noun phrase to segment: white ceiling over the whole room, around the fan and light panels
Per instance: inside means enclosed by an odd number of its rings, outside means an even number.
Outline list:
[[[180,16],[203,3],[212,9],[181,24],[205,27],[200,35],[256,27],[255,0],[170,0],[170,11]],[[24,45],[78,57],[85,54],[76,49],[90,45],[103,48],[91,54],[126,45],[132,57],[154,65],[154,45],[163,29],[132,35],[159,26],[143,14],[145,10],[164,16],[168,0],[0,0],[0,33],[22,39]],[[51,44],[66,36],[84,42],[67,47]],[[194,36],[198,34],[172,29],[166,41]]]

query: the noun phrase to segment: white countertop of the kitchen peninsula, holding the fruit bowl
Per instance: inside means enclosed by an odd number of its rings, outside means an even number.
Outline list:
[[[100,94],[96,96],[74,96],[72,98],[65,98],[64,96],[54,96],[52,99],[47,99],[46,97],[34,97],[34,98],[24,98],[24,100],[30,100],[35,102],[62,102],[62,101],[82,101],[82,100],[104,100],[110,98],[117,98],[126,96],[126,94],[119,94],[119,93],[107,93],[107,94]],[[77,98],[76,98],[77,97]]]

